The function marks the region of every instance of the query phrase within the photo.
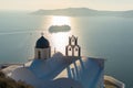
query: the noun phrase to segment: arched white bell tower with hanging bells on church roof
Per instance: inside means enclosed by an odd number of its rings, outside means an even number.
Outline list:
[[[66,56],[81,56],[81,47],[78,45],[78,37],[69,37],[69,45],[65,46]]]

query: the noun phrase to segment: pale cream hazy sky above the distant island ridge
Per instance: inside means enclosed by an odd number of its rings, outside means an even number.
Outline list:
[[[133,0],[0,0],[0,10],[38,10],[75,7],[96,10],[133,10]]]

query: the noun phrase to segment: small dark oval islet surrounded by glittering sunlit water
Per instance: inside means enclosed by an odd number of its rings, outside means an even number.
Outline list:
[[[71,30],[70,25],[51,25],[49,28],[50,33],[69,32],[70,30]]]

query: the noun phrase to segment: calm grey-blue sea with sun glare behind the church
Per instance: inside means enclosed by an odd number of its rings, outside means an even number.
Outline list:
[[[52,51],[64,53],[68,36],[79,36],[82,55],[105,58],[105,74],[133,88],[133,18],[68,18],[70,32],[49,33],[53,16],[0,12],[0,63],[24,63],[34,56],[41,32],[51,42]],[[58,22],[58,21],[57,21]],[[59,22],[60,23],[60,22]]]

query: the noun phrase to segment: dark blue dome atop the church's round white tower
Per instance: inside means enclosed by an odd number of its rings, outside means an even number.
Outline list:
[[[41,36],[35,44],[35,48],[48,48],[49,46],[49,41],[44,36]]]

